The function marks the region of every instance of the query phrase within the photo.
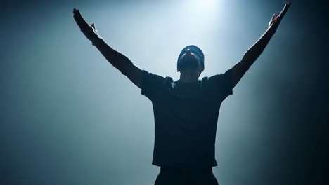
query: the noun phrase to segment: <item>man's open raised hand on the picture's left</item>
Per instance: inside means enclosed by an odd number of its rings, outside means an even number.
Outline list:
[[[80,30],[87,39],[89,39],[91,42],[96,41],[96,39],[101,38],[101,36],[98,35],[98,31],[95,27],[95,24],[91,24],[91,26],[88,25],[88,23],[82,18],[82,15],[80,14],[79,10],[73,9],[73,18],[75,18],[75,22],[77,22],[77,25],[79,26]]]

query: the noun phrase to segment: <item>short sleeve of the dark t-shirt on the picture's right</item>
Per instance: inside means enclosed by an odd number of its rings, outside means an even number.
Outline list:
[[[221,97],[221,100],[233,94],[232,76],[232,69],[228,69],[224,74],[216,74],[208,79],[210,89],[215,95]]]

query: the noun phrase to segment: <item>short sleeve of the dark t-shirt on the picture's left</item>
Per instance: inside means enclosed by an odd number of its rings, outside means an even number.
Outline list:
[[[163,88],[164,77],[142,70],[141,94],[154,100]]]

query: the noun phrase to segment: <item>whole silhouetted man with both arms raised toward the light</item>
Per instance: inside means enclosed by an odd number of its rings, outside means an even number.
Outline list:
[[[141,88],[141,94],[153,104],[155,144],[153,165],[160,166],[155,184],[218,184],[212,173],[215,160],[215,137],[221,102],[257,60],[288,11],[274,14],[269,28],[250,47],[240,62],[224,74],[199,79],[205,69],[205,56],[197,46],[186,46],[177,60],[179,80],[162,77],[136,67],[128,57],[111,48],[99,36],[94,24],[89,26],[79,10],[74,18],[79,28],[104,57]]]

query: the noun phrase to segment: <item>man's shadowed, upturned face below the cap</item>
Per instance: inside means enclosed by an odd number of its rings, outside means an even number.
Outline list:
[[[200,57],[187,49],[179,59],[179,71],[186,74],[198,74],[203,71]]]

